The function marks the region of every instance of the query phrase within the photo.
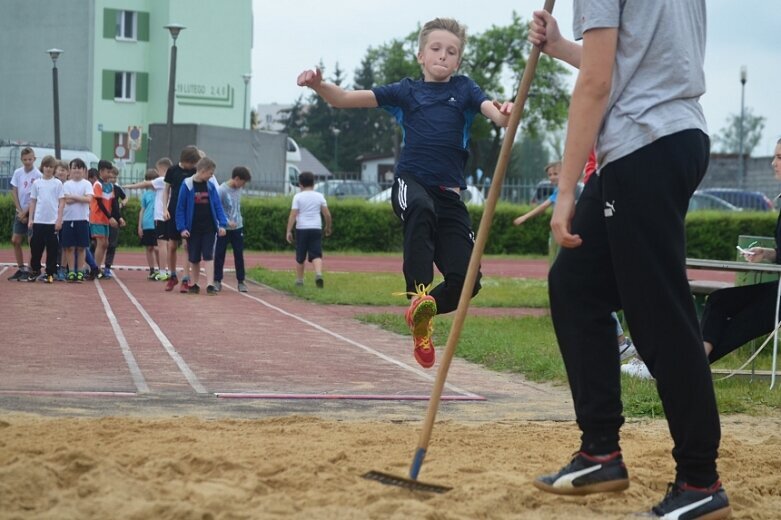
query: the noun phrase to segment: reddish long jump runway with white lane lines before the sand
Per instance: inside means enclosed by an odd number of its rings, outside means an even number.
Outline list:
[[[414,366],[408,338],[327,306],[260,287],[241,294],[228,282],[218,296],[168,293],[143,271],[115,274],[80,284],[2,282],[0,392],[395,400],[430,393],[435,372]],[[483,399],[455,384],[444,398]]]

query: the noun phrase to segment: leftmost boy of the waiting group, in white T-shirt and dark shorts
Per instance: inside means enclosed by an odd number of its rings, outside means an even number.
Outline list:
[[[13,229],[11,230],[11,245],[14,248],[16,258],[16,272],[8,280],[26,281],[28,277],[27,267],[24,265],[24,253],[22,241],[27,239],[27,224],[29,220],[30,192],[33,183],[41,178],[41,172],[35,167],[35,152],[32,148],[22,148],[20,154],[22,167],[14,171],[11,177],[11,199],[14,201],[16,212],[14,213]]]

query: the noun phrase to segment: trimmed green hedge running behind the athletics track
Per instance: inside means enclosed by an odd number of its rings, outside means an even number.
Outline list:
[[[242,200],[245,247],[260,251],[288,249],[285,226],[290,213],[290,198],[247,198]],[[401,224],[393,215],[390,204],[373,204],[362,200],[328,202],[333,216],[334,233],[326,239],[331,251],[364,252],[401,251]],[[120,245],[139,245],[135,232],[138,225],[139,201],[131,198],[124,210],[127,226],[120,233]],[[550,215],[526,222],[522,227],[512,220],[528,211],[529,206],[500,203],[496,208],[491,235],[486,244],[488,254],[548,254],[548,222]],[[473,227],[477,231],[483,215],[482,207],[469,206]],[[10,238],[14,206],[10,195],[0,196],[0,229]],[[773,212],[709,212],[693,213],[686,219],[688,255],[694,258],[732,260],[738,235],[773,236],[776,214]]]

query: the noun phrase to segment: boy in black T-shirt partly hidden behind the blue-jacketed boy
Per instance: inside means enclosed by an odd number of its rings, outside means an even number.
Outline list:
[[[186,178],[195,174],[195,165],[200,159],[201,155],[198,148],[195,146],[185,146],[179,155],[179,163],[168,168],[168,171],[165,173],[163,200],[166,202],[166,208],[163,211],[163,220],[166,221],[165,237],[168,240],[168,269],[171,272],[171,277],[165,284],[166,291],[173,291],[176,284],[179,283],[176,276],[176,250],[182,242],[182,236],[177,229],[176,222],[176,206],[179,202],[179,188]],[[188,263],[185,262],[181,292],[187,292],[188,290],[188,271]]]

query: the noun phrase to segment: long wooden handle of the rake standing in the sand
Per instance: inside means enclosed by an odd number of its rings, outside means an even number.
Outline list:
[[[555,0],[545,0],[543,9],[552,13],[554,3]],[[426,412],[426,420],[423,423],[423,429],[420,432],[415,457],[412,461],[412,467],[410,468],[410,478],[412,479],[418,478],[418,473],[420,472],[420,467],[423,465],[428,443],[431,440],[431,430],[434,428],[434,420],[437,417],[439,401],[442,398],[442,389],[445,386],[447,373],[448,370],[450,370],[450,363],[453,360],[453,355],[455,354],[456,346],[458,345],[458,339],[461,336],[461,329],[463,328],[464,320],[466,319],[466,313],[469,310],[472,290],[474,289],[475,281],[477,280],[477,273],[480,269],[480,261],[483,257],[483,251],[485,250],[485,243],[488,240],[488,234],[494,219],[494,213],[496,212],[496,203],[499,200],[499,195],[502,191],[507,164],[510,162],[510,154],[512,152],[513,142],[515,141],[515,133],[518,129],[518,124],[521,122],[523,108],[526,104],[526,99],[529,97],[529,89],[531,88],[539,59],[540,49],[536,45],[533,45],[531,53],[529,53],[529,59],[526,62],[526,68],[521,77],[518,94],[515,96],[515,104],[510,112],[510,120],[504,134],[504,142],[502,142],[502,148],[499,152],[499,160],[496,163],[496,169],[494,170],[494,176],[491,181],[491,188],[488,191],[488,199],[485,202],[483,218],[480,220],[480,228],[477,231],[475,246],[472,250],[472,256],[469,258],[469,267],[466,271],[466,279],[464,280],[464,287],[461,290],[461,297],[458,300],[458,308],[456,309],[456,314],[453,318],[453,326],[450,329],[445,353],[442,356],[439,370],[437,371],[437,377],[434,380],[434,388],[431,390],[431,399],[429,400],[428,411]]]

